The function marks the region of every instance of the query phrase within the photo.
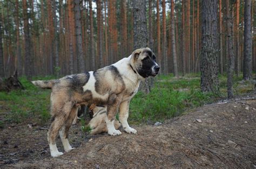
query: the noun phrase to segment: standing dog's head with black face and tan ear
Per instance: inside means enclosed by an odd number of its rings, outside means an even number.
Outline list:
[[[132,53],[132,61],[134,69],[143,78],[156,76],[160,67],[156,62],[156,55],[150,48],[139,48]]]

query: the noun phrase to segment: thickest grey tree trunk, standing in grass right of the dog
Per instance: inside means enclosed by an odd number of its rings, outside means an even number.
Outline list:
[[[217,0],[203,1],[201,90],[219,92],[217,66]]]

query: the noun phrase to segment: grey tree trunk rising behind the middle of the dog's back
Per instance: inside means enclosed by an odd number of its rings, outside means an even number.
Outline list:
[[[76,44],[77,44],[77,63],[78,73],[85,72],[83,41],[82,41],[82,25],[81,25],[81,10],[80,1],[75,0],[75,24],[76,24]]]

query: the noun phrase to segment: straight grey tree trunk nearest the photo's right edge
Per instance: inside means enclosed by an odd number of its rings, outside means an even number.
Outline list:
[[[245,1],[245,30],[244,30],[244,80],[252,79],[252,27],[251,27],[252,0]]]

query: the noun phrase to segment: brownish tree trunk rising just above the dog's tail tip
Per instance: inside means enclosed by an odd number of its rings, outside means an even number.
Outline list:
[[[29,30],[28,7],[26,0],[23,0],[23,20],[24,20],[24,37],[25,37],[25,75],[29,80],[32,78],[32,58],[31,58],[31,39]]]

